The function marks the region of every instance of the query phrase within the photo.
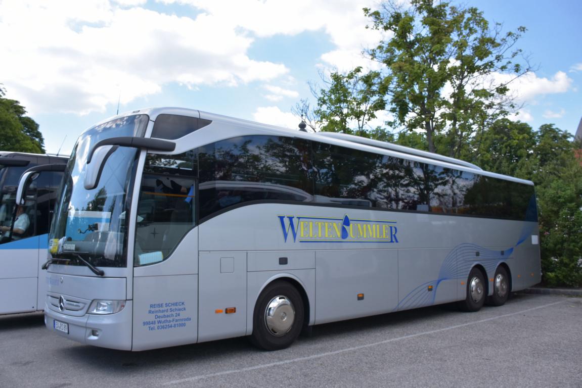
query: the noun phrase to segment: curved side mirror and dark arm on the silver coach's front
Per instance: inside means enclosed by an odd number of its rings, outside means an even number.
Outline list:
[[[171,152],[176,149],[176,143],[168,140],[130,136],[112,137],[97,142],[87,156],[87,170],[83,181],[86,190],[93,190],[97,187],[105,161],[119,147]]]

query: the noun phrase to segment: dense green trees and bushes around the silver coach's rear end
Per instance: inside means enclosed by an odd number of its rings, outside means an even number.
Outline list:
[[[485,170],[533,180],[538,199],[542,280],[548,286],[582,286],[582,145],[544,124],[498,120],[475,138]]]

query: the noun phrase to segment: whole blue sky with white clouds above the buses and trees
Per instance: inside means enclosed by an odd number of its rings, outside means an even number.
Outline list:
[[[512,84],[514,120],[575,133],[582,117],[579,0],[464,0],[504,32],[535,72]],[[370,0],[0,0],[0,83],[40,124],[47,152],[119,112],[179,106],[297,128],[320,74],[371,66],[381,40]],[[385,37],[384,37],[385,38]],[[378,123],[386,116],[380,115]]]

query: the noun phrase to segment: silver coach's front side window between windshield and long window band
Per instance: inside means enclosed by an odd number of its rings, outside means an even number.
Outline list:
[[[164,261],[196,225],[192,152],[148,155],[137,204],[134,265]]]

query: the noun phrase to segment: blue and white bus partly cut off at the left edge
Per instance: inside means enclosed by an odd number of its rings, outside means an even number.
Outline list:
[[[68,156],[0,152],[0,314],[44,309],[47,293],[41,265],[47,261],[48,230],[61,172],[34,176],[17,205],[20,177],[40,165],[61,165]]]

